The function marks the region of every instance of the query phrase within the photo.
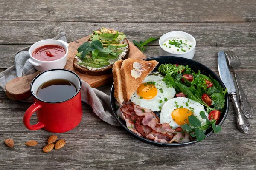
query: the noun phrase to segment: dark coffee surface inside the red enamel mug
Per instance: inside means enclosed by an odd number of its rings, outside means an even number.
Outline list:
[[[75,85],[65,79],[52,79],[38,88],[37,97],[45,102],[62,102],[77,92]]]

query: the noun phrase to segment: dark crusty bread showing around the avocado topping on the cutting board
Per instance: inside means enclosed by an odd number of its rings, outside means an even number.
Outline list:
[[[108,30],[111,30],[111,32],[115,31],[113,29],[108,29]],[[97,31],[100,31],[100,30],[97,30]],[[90,41],[90,39],[88,41]],[[126,52],[125,52],[125,55],[120,54],[117,60],[126,59],[129,55],[130,46],[129,46],[128,40],[125,38],[125,39],[122,40],[122,43],[127,44],[127,46],[125,48]],[[119,44],[113,44],[113,45],[119,45]],[[87,66],[79,64],[79,57],[76,56],[73,60],[73,67],[76,71],[78,71],[82,74],[87,74],[87,75],[92,75],[92,76],[101,76],[101,75],[105,75],[105,74],[110,74],[111,73],[111,68],[113,67],[113,64],[107,65],[107,66],[102,67],[102,68],[90,68],[90,69],[88,69]]]

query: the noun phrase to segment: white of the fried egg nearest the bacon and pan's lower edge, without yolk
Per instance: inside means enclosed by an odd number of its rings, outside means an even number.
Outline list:
[[[193,115],[196,116],[201,121],[202,125],[204,125],[206,123],[206,120],[202,119],[200,116],[200,112],[204,111],[205,115],[208,118],[208,113],[204,110],[204,106],[201,105],[200,103],[195,102],[194,100],[191,100],[186,97],[176,97],[176,98],[168,100],[162,107],[162,110],[160,113],[160,123],[169,123],[169,125],[173,129],[180,127],[180,125],[178,125],[172,119],[172,112],[175,109],[180,108],[180,106],[182,106],[183,108],[187,108],[190,111],[193,110],[194,111]]]

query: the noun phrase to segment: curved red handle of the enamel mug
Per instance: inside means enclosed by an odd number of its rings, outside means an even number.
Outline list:
[[[23,123],[25,125],[26,128],[28,128],[29,130],[38,130],[44,127],[44,124],[41,122],[38,122],[35,125],[30,125],[30,118],[32,116],[32,114],[40,109],[42,106],[38,103],[34,103],[32,104],[25,112],[24,117],[23,117]]]

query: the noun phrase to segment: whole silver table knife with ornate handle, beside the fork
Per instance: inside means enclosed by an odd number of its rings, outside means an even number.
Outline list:
[[[218,71],[219,71],[222,82],[227,88],[227,93],[230,95],[233,105],[235,107],[236,124],[237,124],[238,130],[244,133],[248,133],[250,125],[248,120],[244,116],[244,113],[241,111],[239,99],[236,94],[236,88],[233,82],[233,78],[227,66],[227,61],[226,61],[224,51],[220,51],[218,53]]]

